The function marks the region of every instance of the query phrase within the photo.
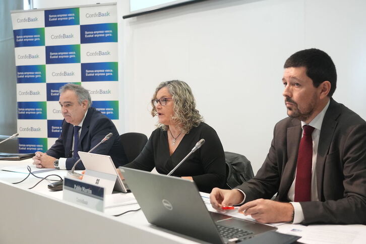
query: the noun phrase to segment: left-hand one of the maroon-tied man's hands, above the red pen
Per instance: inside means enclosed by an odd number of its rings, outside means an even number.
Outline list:
[[[212,189],[210,202],[214,209],[222,210],[222,206],[232,206],[241,203],[244,195],[238,190]]]

